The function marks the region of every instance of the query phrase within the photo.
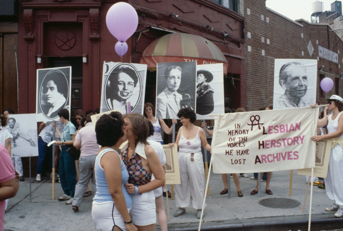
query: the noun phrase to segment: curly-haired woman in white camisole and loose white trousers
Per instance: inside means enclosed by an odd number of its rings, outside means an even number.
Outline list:
[[[190,108],[182,108],[177,113],[182,126],[177,133],[175,143],[179,148],[179,168],[181,184],[175,185],[175,202],[179,209],[174,213],[178,217],[186,213],[192,196],[193,208],[197,210],[197,218],[201,218],[201,209],[204,196],[204,162],[202,160],[201,146],[211,151],[211,145],[207,143],[204,130],[194,125],[197,119],[196,113]],[[206,206],[206,205],[205,205]]]

